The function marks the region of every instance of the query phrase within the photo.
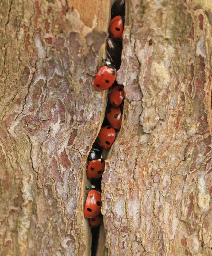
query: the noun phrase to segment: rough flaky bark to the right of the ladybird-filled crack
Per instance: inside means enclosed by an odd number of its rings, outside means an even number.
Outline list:
[[[126,19],[107,255],[212,255],[212,3],[129,0]]]

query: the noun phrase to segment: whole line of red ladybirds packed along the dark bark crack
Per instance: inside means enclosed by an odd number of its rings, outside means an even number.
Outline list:
[[[122,52],[122,34],[125,18],[125,0],[115,0],[111,9],[109,37],[106,40],[107,59],[94,79],[94,88],[98,91],[110,88],[106,118],[88,156],[87,178],[93,181],[101,179],[104,172],[102,149],[109,149],[120,130],[124,100],[124,86],[116,83],[116,71],[120,68]],[[91,186],[92,187],[92,186]],[[84,216],[89,219],[91,227],[97,227],[103,222],[101,214],[101,192],[92,187],[87,195]]]

